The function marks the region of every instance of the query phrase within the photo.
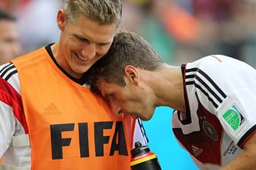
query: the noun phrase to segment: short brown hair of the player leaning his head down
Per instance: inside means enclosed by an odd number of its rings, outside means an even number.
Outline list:
[[[107,54],[85,73],[85,78],[91,85],[91,90],[98,92],[99,78],[125,86],[123,76],[126,65],[155,71],[163,63],[149,42],[136,33],[119,30]]]

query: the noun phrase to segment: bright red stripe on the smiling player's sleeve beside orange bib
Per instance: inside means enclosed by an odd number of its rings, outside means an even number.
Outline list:
[[[24,131],[27,134],[27,121],[24,115],[21,95],[2,77],[0,77],[0,100],[12,107],[14,116],[21,122]]]

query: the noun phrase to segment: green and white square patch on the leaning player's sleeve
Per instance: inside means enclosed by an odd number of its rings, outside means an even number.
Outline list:
[[[222,115],[222,118],[234,132],[238,131],[238,128],[240,128],[242,123],[245,121],[245,116],[235,103],[226,110]]]

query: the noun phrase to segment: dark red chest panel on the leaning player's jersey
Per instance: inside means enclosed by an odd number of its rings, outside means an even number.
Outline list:
[[[221,139],[222,126],[215,115],[208,112],[203,105],[198,104],[197,116],[200,124],[200,131],[194,131],[190,134],[183,134],[180,128],[174,128],[174,134],[187,151],[200,162],[205,164],[221,164]],[[203,121],[209,122],[216,130],[217,140],[212,140],[203,131]],[[192,122],[195,123],[195,122]]]

